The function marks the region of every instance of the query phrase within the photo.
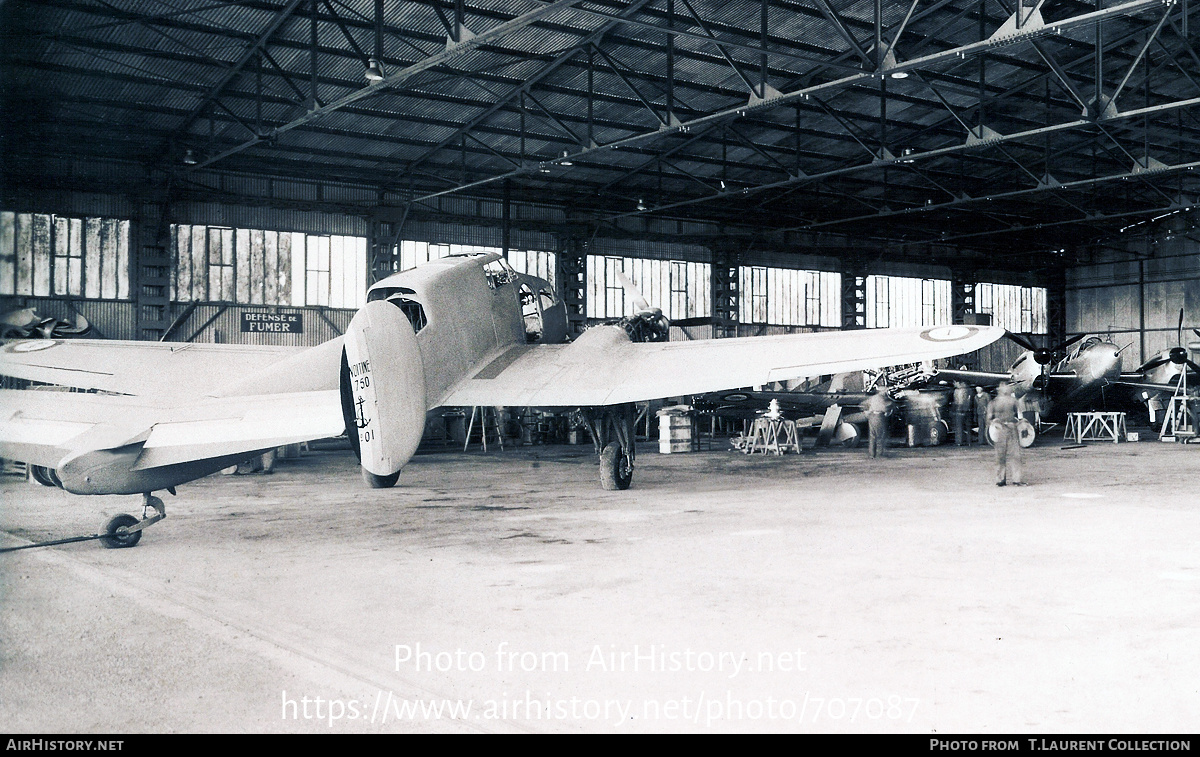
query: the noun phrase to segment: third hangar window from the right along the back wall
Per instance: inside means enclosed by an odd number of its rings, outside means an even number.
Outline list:
[[[841,322],[840,274],[742,266],[738,287],[742,323],[836,326]]]

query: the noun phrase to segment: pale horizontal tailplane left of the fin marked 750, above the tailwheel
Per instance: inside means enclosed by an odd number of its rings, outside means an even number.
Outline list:
[[[91,392],[0,390],[0,457],[54,468],[91,450],[142,445],[133,469],[252,453],[336,437],[337,390],[167,405]]]

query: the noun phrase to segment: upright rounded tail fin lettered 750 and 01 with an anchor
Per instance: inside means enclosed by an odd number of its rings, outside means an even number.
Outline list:
[[[386,300],[367,302],[346,330],[342,415],[364,479],[396,482],[425,432],[425,367],[416,334]]]

